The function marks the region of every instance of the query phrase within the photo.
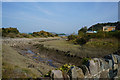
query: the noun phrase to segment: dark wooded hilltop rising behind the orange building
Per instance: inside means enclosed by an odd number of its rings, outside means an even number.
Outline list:
[[[118,24],[120,25],[120,22],[97,23],[95,25],[92,25],[90,28],[88,28],[88,30],[98,31],[98,30],[102,30],[103,26],[118,26]]]

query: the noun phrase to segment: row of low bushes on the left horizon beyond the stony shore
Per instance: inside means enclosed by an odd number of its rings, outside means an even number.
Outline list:
[[[32,38],[32,37],[54,37],[56,34],[52,34],[46,31],[33,32],[31,34],[20,33],[17,28],[2,28],[2,36],[10,38]]]

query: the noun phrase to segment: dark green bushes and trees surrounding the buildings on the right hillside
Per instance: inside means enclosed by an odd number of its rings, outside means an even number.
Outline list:
[[[93,38],[98,38],[98,39],[103,39],[103,38],[116,38],[120,39],[120,30],[119,30],[119,22],[115,23],[98,23],[96,25],[93,25],[93,30],[97,30],[97,33],[86,33],[87,27],[83,27],[80,30],[78,30],[78,35],[71,34],[68,36],[68,40],[72,41],[74,44],[86,44],[90,39]],[[116,26],[117,29],[115,31],[109,31],[109,32],[104,32],[102,31],[102,27],[110,25],[110,26]],[[90,27],[88,30],[91,30]]]

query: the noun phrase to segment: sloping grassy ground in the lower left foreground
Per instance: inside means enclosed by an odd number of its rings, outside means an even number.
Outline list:
[[[36,63],[34,60],[20,55],[13,48],[3,44],[2,48],[2,77],[3,78],[36,78],[46,74],[52,68],[45,64]],[[28,68],[32,64],[38,68]],[[44,69],[42,68],[44,67]],[[43,73],[41,74],[38,69]],[[48,70],[47,70],[48,69]]]

